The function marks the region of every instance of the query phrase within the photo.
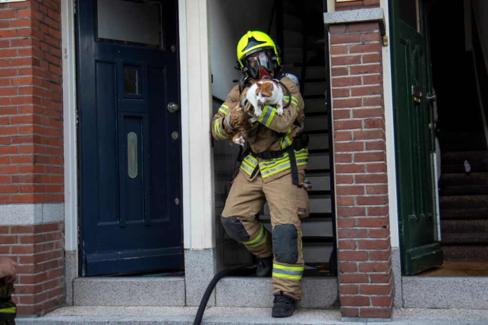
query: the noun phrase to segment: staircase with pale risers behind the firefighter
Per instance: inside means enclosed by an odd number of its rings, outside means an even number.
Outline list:
[[[312,189],[308,191],[310,216],[302,220],[303,256],[305,264],[327,264],[333,249],[333,228],[328,116],[325,105],[327,83],[323,1],[278,2],[283,5],[282,10],[277,10],[277,13],[283,13],[282,65],[285,73],[291,73],[300,79],[305,101],[305,133],[310,138],[306,178],[311,181]],[[306,18],[305,24],[303,17]],[[304,65],[305,78],[302,78]],[[271,229],[267,205],[260,219],[266,228]],[[333,273],[335,270],[332,270]],[[328,274],[325,270],[321,273]]]

